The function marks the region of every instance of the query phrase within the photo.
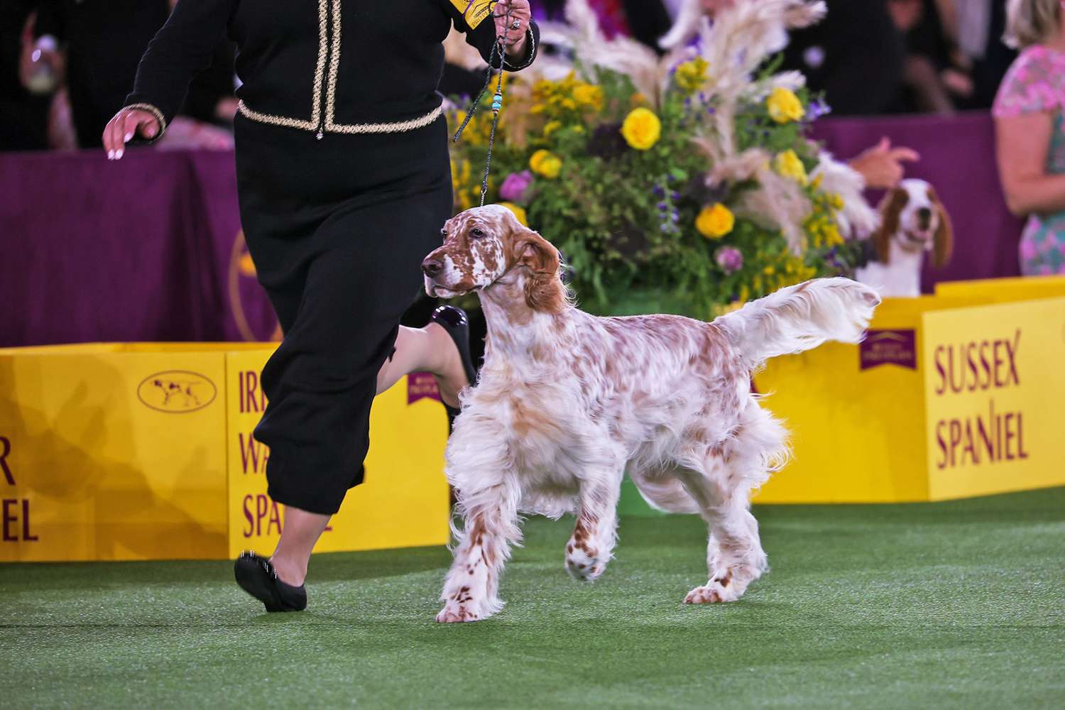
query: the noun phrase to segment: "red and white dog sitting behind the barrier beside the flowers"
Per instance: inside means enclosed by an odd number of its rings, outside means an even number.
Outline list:
[[[932,263],[943,267],[950,261],[953,232],[950,216],[932,185],[923,180],[903,180],[880,203],[881,226],[872,235],[876,261],[854,275],[881,296],[921,295],[921,262],[932,251]]]

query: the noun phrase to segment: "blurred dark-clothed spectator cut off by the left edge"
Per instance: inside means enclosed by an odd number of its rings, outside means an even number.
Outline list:
[[[0,150],[43,150],[48,147],[49,96],[27,89],[19,68],[30,62],[33,0],[0,2]]]

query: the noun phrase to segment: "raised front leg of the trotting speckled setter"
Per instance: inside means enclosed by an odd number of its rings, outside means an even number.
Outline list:
[[[609,472],[580,486],[577,524],[566,544],[566,571],[574,579],[597,579],[613,556],[622,475]]]

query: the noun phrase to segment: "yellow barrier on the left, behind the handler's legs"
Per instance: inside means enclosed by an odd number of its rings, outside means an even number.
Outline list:
[[[262,344],[0,349],[0,561],[225,559],[269,552],[284,511],[253,441]],[[318,551],[440,545],[447,420],[378,397],[366,482]]]

